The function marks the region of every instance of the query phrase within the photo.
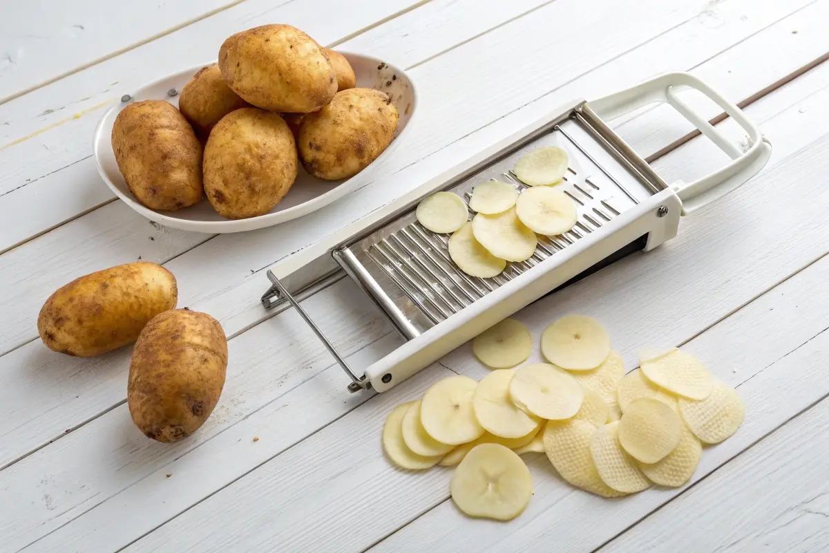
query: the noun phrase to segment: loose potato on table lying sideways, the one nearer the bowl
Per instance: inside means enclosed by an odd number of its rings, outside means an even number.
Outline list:
[[[134,342],[148,321],[176,307],[176,278],[138,261],[75,279],[49,296],[37,332],[54,352],[93,357]]]

